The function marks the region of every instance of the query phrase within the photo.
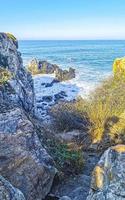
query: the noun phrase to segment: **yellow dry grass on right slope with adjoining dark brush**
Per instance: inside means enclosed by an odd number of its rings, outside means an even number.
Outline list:
[[[62,130],[80,128],[74,127],[76,119],[80,118],[84,128],[87,127],[93,143],[100,142],[105,134],[116,143],[123,142],[123,139],[125,141],[124,79],[110,77],[87,100],[79,99],[67,105],[57,107],[56,112],[53,110],[56,122]]]

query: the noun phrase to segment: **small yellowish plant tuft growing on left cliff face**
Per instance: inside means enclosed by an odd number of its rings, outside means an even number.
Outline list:
[[[0,85],[5,84],[11,79],[11,73],[4,68],[0,68]]]

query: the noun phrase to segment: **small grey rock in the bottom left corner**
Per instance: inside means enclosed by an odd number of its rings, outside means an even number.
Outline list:
[[[25,200],[20,190],[0,176],[0,200]]]

